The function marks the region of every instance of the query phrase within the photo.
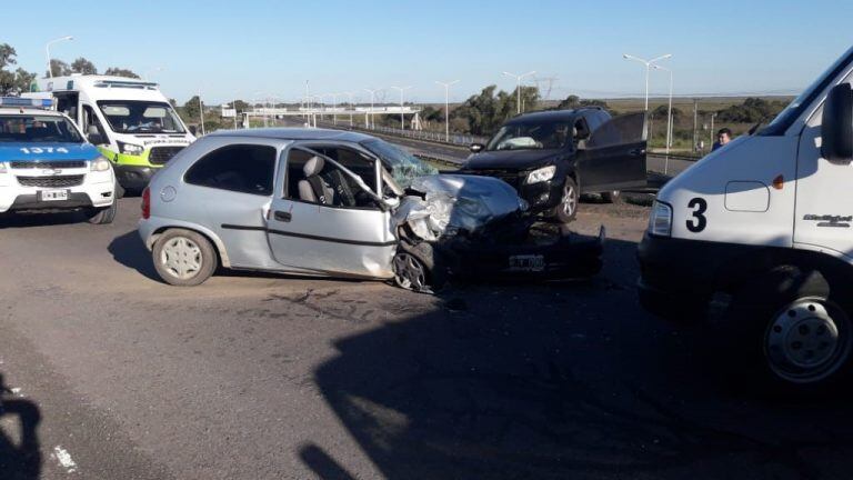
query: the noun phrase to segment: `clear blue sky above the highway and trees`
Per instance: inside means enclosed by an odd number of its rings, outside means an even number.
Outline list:
[[[503,71],[556,77],[551,98],[642,94],[643,68],[623,52],[672,53],[676,94],[795,92],[853,44],[851,0],[693,1],[24,1],[3,6],[0,42],[43,73],[52,57],[150,77],[183,102],[413,86],[407,99],[451,100]],[[14,21],[20,17],[21,21]],[[544,83],[542,84],[544,87]],[[653,72],[652,92],[669,78]],[[255,93],[262,93],[260,96]],[[389,90],[389,101],[399,93]],[[331,100],[331,99],[330,99]]]

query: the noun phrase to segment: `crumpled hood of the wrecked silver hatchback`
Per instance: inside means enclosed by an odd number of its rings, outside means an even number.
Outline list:
[[[424,240],[460,231],[473,233],[528,209],[512,187],[491,177],[432,174],[414,179],[410,189],[423,197],[404,197],[394,218],[398,224],[409,223]]]

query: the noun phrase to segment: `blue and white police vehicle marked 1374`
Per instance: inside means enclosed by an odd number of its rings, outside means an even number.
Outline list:
[[[0,214],[81,210],[111,223],[117,207],[110,161],[52,99],[0,97]]]

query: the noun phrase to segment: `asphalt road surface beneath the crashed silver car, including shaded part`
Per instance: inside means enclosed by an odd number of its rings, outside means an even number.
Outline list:
[[[648,209],[582,207],[575,229],[609,229],[600,277],[436,297],[169,287],[136,198],[111,226],[2,220],[0,478],[849,478],[850,397],[733,390],[636,304]]]

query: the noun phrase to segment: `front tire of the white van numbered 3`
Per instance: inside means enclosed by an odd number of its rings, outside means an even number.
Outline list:
[[[785,397],[837,384],[853,350],[849,301],[815,271],[782,267],[754,280],[732,299],[716,341],[735,340],[734,378]]]

